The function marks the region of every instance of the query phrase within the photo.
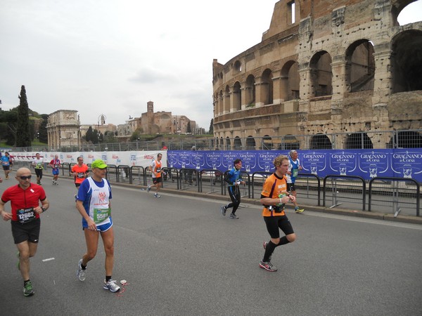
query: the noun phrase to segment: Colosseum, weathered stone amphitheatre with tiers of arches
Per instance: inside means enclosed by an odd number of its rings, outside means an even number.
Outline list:
[[[262,41],[213,61],[216,147],[422,147],[422,22],[411,0],[281,0]]]

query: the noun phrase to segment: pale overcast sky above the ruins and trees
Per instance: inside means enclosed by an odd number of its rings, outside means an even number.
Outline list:
[[[0,9],[0,100],[25,85],[40,114],[77,110],[81,124],[124,124],[154,110],[208,130],[212,60],[258,44],[276,0],[19,0]],[[422,0],[404,22],[421,20]],[[412,17],[413,16],[413,17]]]

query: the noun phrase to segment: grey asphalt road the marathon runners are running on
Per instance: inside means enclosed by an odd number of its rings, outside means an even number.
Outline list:
[[[288,211],[298,239],[276,249],[279,271],[267,272],[260,207],[231,220],[212,197],[115,185],[113,279],[129,282],[117,295],[102,287],[102,244],[87,279],[76,278],[85,244],[72,181],[44,187],[34,296],[23,296],[10,223],[0,222],[0,315],[422,315],[422,225]]]

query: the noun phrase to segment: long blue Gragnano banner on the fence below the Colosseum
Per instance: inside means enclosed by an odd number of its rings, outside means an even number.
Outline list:
[[[273,172],[273,160],[282,150],[168,150],[167,166],[176,169],[214,169],[225,172],[235,159],[242,160],[242,171]],[[422,148],[380,150],[298,150],[300,173],[326,176],[412,178],[422,183]]]

